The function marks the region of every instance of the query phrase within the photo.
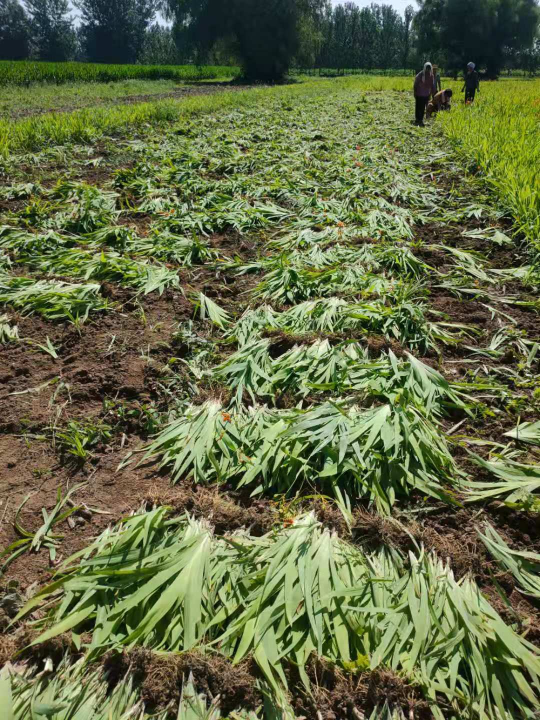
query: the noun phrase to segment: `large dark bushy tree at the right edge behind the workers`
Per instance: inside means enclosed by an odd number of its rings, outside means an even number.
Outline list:
[[[418,49],[447,69],[469,60],[495,77],[506,50],[531,48],[539,23],[536,0],[418,0]]]

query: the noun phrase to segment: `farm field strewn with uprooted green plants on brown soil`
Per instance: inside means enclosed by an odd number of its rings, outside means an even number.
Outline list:
[[[539,713],[537,88],[4,121],[14,719]]]

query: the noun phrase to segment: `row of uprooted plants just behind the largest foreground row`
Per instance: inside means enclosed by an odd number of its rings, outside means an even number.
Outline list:
[[[157,457],[175,482],[228,482],[252,495],[292,496],[315,486],[348,503],[365,498],[382,514],[415,493],[454,503],[461,475],[438,424],[405,401],[367,410],[339,401],[307,410],[255,406],[251,413],[209,401],[180,411],[142,450],[141,462]]]

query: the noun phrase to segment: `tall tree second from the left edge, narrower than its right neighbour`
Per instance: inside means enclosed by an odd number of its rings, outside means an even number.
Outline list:
[[[61,62],[75,54],[76,35],[68,0],[24,0],[30,14],[33,54]]]

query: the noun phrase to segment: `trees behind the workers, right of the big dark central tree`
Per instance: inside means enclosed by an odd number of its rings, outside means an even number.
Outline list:
[[[417,0],[403,16],[387,4],[325,8],[318,35],[301,45],[302,67],[416,68],[426,60],[449,73],[473,60],[488,76],[540,68],[536,0]]]

